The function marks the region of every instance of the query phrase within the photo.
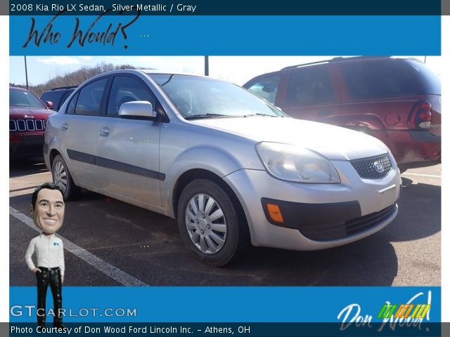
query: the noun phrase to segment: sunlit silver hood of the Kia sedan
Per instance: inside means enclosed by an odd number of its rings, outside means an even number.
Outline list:
[[[235,133],[259,142],[298,145],[331,160],[375,157],[389,152],[377,138],[347,128],[280,117],[199,119],[196,124]]]

